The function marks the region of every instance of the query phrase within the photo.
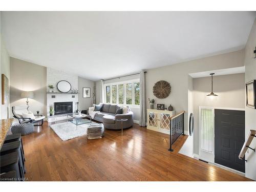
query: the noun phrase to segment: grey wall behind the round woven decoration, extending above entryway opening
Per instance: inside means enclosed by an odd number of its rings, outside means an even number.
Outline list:
[[[171,103],[177,113],[182,110],[186,111],[185,130],[187,131],[188,74],[241,66],[244,66],[244,50],[147,70],[146,98],[155,98],[156,103],[163,103],[165,105],[169,105]],[[166,80],[170,83],[170,86],[172,86],[170,95],[165,99],[157,99],[152,91],[154,84],[159,80]],[[149,108],[148,104],[147,108]]]

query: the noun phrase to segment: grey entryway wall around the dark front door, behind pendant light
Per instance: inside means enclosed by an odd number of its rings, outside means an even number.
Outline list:
[[[194,105],[194,153],[199,153],[199,106],[222,108],[245,108],[245,74],[221,75],[214,77],[214,93],[218,97],[208,97],[211,91],[211,78],[193,79]]]

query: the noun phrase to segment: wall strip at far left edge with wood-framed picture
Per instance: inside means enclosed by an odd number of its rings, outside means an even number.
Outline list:
[[[2,14],[2,12],[1,12]],[[0,18],[1,20],[1,18]],[[2,30],[2,28],[1,28]],[[2,31],[0,33],[0,38],[1,38],[1,76],[2,74],[5,74],[5,76],[8,78],[9,80],[9,86],[10,86],[10,57],[9,57],[9,54],[8,54],[8,51],[5,47],[5,43],[3,41],[3,38],[2,38]],[[2,84],[2,77],[0,77],[0,85]],[[9,92],[10,93],[10,92]],[[9,118],[9,114],[10,114],[10,94],[9,94],[9,100],[8,100],[8,103],[6,104],[2,104],[2,88],[1,88],[1,116],[0,118],[1,119],[7,119]]]

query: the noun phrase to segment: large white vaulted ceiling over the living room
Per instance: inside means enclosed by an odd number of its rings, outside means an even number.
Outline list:
[[[243,49],[256,12],[2,12],[10,56],[97,80]]]

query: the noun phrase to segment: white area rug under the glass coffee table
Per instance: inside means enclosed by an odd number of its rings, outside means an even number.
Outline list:
[[[92,123],[93,124],[93,123]],[[87,128],[90,123],[76,125],[71,122],[52,124],[50,127],[52,130],[62,139],[67,141],[87,134]]]

